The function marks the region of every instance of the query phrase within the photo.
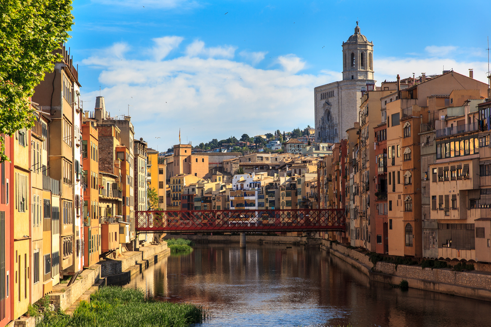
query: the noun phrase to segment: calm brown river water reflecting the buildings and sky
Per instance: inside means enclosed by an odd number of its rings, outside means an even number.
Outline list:
[[[401,291],[317,248],[197,245],[164,258],[125,287],[208,309],[201,327],[491,326],[491,303]]]

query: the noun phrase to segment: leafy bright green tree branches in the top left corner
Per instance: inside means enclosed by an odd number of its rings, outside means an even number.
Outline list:
[[[54,63],[55,53],[72,29],[71,0],[2,0],[0,2],[0,162],[3,134],[34,125],[29,98]]]

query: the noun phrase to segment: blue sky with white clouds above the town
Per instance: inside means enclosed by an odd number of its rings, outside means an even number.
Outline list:
[[[74,0],[84,110],[105,97],[135,138],[181,142],[314,127],[314,87],[342,79],[342,43],[374,43],[374,78],[450,70],[488,82],[487,1]]]

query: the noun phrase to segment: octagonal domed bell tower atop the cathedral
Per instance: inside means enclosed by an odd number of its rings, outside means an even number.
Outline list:
[[[343,42],[343,80],[373,79],[373,43],[360,33],[356,22],[355,34]]]

